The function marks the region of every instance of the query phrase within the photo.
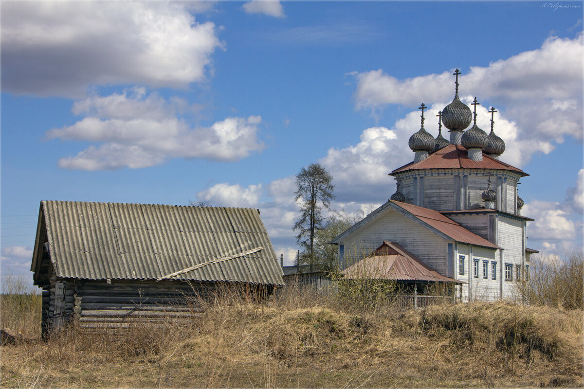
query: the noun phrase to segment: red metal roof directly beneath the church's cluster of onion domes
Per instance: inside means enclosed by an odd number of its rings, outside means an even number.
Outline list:
[[[486,154],[482,155],[482,161],[473,161],[468,158],[468,151],[461,145],[448,145],[435,153],[430,154],[425,160],[418,163],[410,162],[402,167],[398,167],[390,173],[407,170],[419,169],[490,169],[490,170],[511,170],[516,171],[522,176],[529,176],[521,169],[511,166],[508,163],[501,162]]]

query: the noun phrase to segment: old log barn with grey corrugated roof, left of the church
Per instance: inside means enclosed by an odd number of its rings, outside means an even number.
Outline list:
[[[221,286],[283,285],[250,208],[41,201],[31,270],[45,333],[70,320],[97,328],[181,316]]]

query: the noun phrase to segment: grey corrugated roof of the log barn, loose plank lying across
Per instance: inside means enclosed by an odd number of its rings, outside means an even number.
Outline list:
[[[256,209],[42,201],[40,212],[51,261],[63,278],[157,279],[261,246],[173,279],[283,285]],[[35,247],[43,244],[40,236]],[[42,253],[35,254],[33,271]]]

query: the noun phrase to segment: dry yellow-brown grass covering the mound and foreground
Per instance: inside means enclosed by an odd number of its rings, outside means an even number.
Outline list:
[[[314,292],[257,302],[223,290],[188,322],[5,345],[2,386],[582,385],[580,310],[476,302],[363,314]]]

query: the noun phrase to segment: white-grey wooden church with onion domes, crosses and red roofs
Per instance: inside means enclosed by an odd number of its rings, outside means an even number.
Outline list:
[[[413,162],[389,174],[397,191],[332,243],[338,245],[341,269],[390,242],[457,280],[463,301],[513,299],[514,282],[529,278],[529,255],[537,253],[526,246],[526,224],[533,219],[520,214],[523,200],[517,194],[520,178],[529,174],[499,159],[505,142],[493,131],[495,108],[486,134],[477,126],[477,99],[473,114],[458,97],[460,71],[454,75],[456,94],[438,115],[438,136],[424,129],[422,104],[422,126],[408,142]]]

